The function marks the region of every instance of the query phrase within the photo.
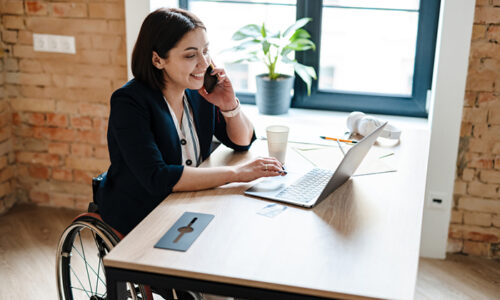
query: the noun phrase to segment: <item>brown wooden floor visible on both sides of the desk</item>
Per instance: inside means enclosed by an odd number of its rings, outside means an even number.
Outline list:
[[[0,299],[57,299],[55,249],[78,212],[19,205],[0,216]],[[500,261],[420,259],[416,299],[500,299]]]

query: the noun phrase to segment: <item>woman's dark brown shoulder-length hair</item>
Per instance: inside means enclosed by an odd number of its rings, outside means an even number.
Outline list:
[[[205,25],[194,14],[179,8],[159,8],[150,13],[142,23],[132,52],[132,74],[153,89],[165,88],[163,71],[153,66],[153,51],[167,58],[182,37]]]

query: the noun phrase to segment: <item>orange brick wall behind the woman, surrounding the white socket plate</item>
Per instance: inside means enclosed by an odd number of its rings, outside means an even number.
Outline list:
[[[109,97],[126,82],[124,2],[2,1],[17,201],[85,209],[109,165]],[[76,54],[35,52],[33,33],[74,36]]]

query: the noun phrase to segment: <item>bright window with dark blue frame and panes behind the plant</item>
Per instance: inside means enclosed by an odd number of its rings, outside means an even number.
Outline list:
[[[313,19],[306,29],[316,51],[296,58],[318,73],[311,95],[295,81],[293,107],[427,117],[440,0],[180,0],[208,28],[214,61],[231,76],[238,97],[255,103],[259,63],[231,64],[232,33],[249,23],[285,29]],[[283,70],[281,70],[283,71]],[[284,73],[292,73],[287,69]]]

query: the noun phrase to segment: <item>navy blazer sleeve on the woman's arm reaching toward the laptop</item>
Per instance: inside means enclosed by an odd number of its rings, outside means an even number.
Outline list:
[[[163,160],[150,119],[146,105],[130,95],[115,94],[111,97],[109,130],[125,164],[152,195],[166,196],[179,181],[184,167],[169,165]]]

